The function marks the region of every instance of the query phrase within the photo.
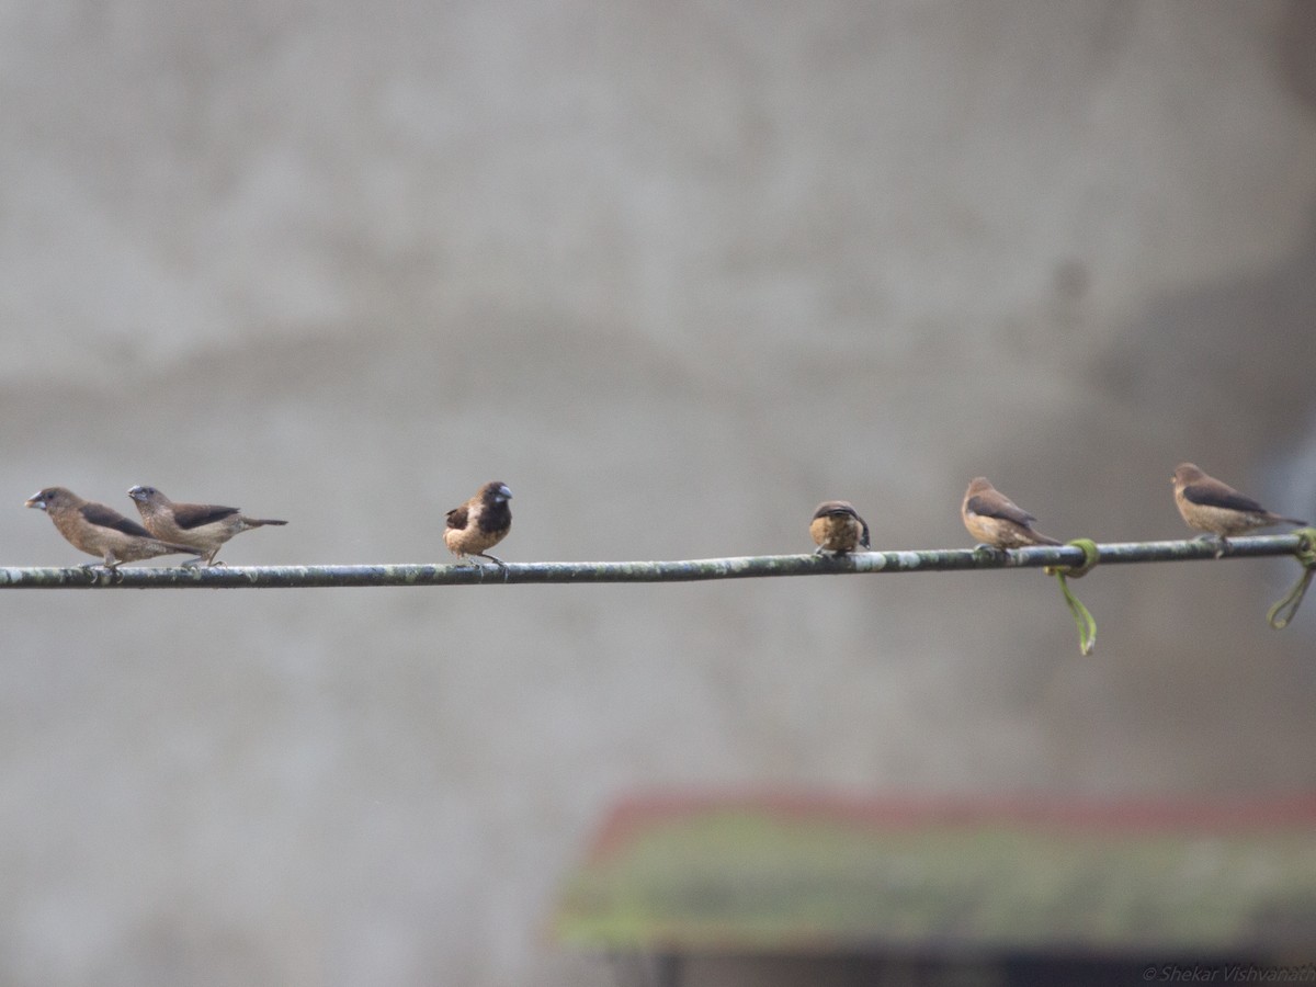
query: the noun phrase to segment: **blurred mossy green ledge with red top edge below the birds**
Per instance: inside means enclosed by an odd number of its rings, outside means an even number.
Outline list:
[[[883,984],[1261,976],[1316,955],[1313,836],[1316,795],[637,797],[554,932],[672,983],[711,957],[849,958]]]

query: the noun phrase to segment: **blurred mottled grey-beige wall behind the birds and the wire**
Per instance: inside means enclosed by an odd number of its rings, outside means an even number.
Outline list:
[[[287,517],[232,565],[1186,534],[1316,515],[1316,5],[0,3],[24,497]],[[546,916],[653,788],[1316,783],[1283,559],[0,596],[0,980],[609,982]],[[1308,609],[1316,604],[1308,603]]]

